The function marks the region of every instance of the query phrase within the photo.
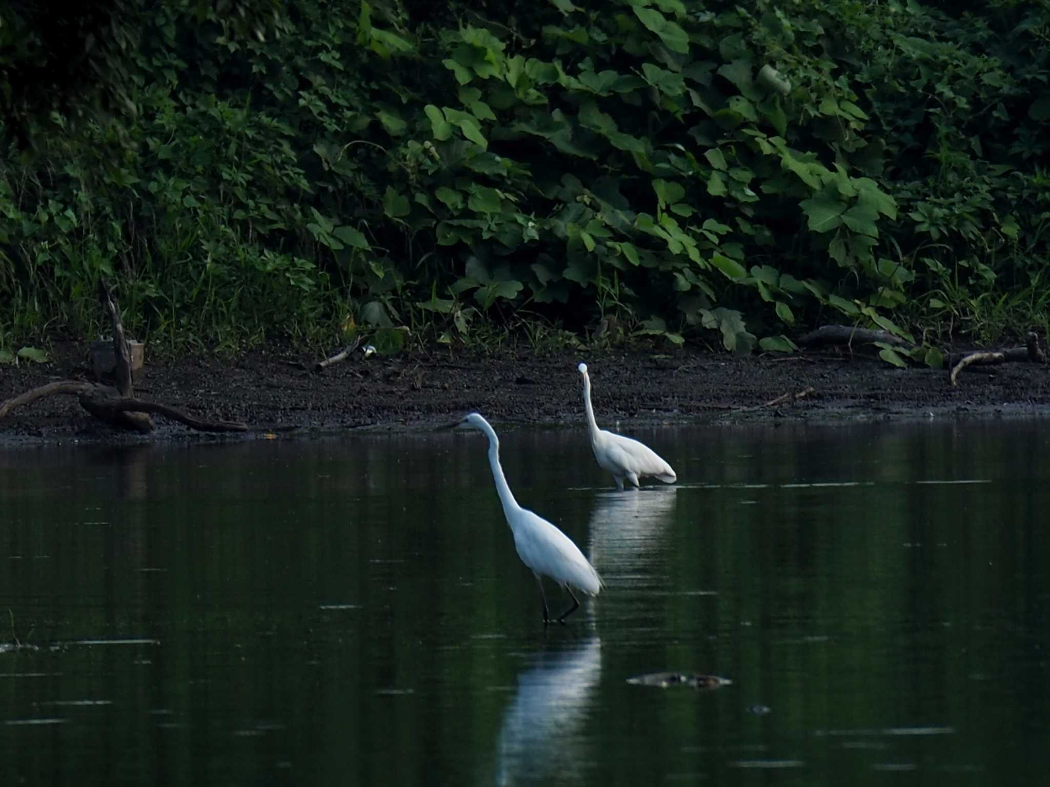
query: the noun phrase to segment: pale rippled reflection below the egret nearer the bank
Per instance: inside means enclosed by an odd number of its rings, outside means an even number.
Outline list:
[[[595,495],[588,528],[590,559],[607,583],[664,577],[664,536],[676,499],[675,487]]]

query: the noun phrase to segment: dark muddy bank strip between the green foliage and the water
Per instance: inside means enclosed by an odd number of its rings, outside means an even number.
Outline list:
[[[1050,414],[1050,370],[1035,363],[974,366],[953,388],[945,370],[898,369],[836,349],[739,358],[691,349],[538,356],[439,348],[368,359],[356,353],[320,374],[308,370],[317,360],[280,347],[233,359],[155,358],[147,350],[135,393],[207,419],[244,422],[249,438],[423,430],[469,410],[504,424],[566,424],[583,419],[576,364],[584,360],[598,423],[606,425]],[[46,364],[0,366],[0,402],[67,379],[92,379],[85,346],[58,344]],[[811,387],[796,402],[766,405]],[[151,435],[125,434],[93,419],[75,397],[52,397],[0,419],[0,444],[202,435],[161,417],[154,422]]]

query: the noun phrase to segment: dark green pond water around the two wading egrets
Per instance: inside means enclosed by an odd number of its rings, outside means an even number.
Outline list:
[[[1050,423],[500,431],[0,452],[0,784],[1043,783]]]

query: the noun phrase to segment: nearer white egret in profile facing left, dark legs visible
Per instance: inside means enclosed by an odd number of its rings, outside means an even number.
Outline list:
[[[453,426],[461,424],[472,426],[488,438],[488,464],[492,468],[496,491],[500,495],[500,503],[503,504],[503,515],[507,518],[510,532],[513,533],[518,556],[532,570],[540,584],[544,625],[550,622],[550,612],[547,609],[547,595],[543,590],[543,576],[550,577],[565,588],[572,599],[572,607],[558,618],[559,623],[564,623],[565,618],[580,609],[580,600],[572,589],[575,588],[588,596],[596,596],[602,590],[602,578],[572,539],[542,516],[518,505],[500,466],[500,439],[496,437],[496,431],[488,422],[479,413],[471,412]]]

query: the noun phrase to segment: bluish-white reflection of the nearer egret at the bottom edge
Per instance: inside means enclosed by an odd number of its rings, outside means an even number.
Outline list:
[[[497,744],[499,785],[556,774],[580,779],[589,758],[580,726],[602,676],[602,640],[539,655],[518,676],[518,694],[503,715]]]

